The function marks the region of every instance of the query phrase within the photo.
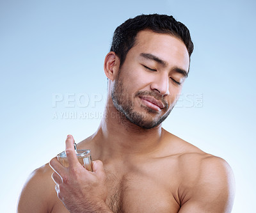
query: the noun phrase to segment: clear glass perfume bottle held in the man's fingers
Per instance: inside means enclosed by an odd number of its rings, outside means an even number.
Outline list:
[[[77,150],[76,143],[74,143],[74,149],[76,152],[76,156],[80,164],[86,168],[86,170],[92,171],[92,155],[91,150]],[[65,167],[68,167],[68,160],[66,152],[63,151],[57,155],[58,161]]]

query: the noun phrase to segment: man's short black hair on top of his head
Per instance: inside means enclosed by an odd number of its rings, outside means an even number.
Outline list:
[[[133,47],[136,35],[143,29],[151,29],[155,33],[168,33],[181,39],[188,49],[190,60],[194,45],[189,30],[184,24],[177,22],[172,15],[142,14],[126,20],[115,30],[110,51],[115,52],[120,58],[120,67],[124,63],[127,52]]]

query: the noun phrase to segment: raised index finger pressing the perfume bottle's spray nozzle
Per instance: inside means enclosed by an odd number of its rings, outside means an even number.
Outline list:
[[[74,149],[74,138],[72,135],[68,135],[66,139],[66,155],[67,155],[67,160],[70,168],[74,168],[77,164],[79,164],[79,161],[77,160],[76,157],[76,151]]]

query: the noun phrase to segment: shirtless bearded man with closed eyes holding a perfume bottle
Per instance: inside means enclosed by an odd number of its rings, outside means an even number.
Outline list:
[[[92,150],[93,172],[79,164],[68,135],[69,167],[54,158],[35,170],[18,212],[231,212],[234,178],[227,162],[161,127],[192,52],[188,29],[172,16],[140,15],[116,28],[104,61],[104,118],[77,145]]]

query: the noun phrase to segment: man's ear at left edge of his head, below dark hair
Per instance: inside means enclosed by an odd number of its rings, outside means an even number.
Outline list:
[[[116,56],[115,52],[109,52],[104,61],[104,72],[108,79],[111,81],[115,80],[116,75],[119,71],[120,59]]]

